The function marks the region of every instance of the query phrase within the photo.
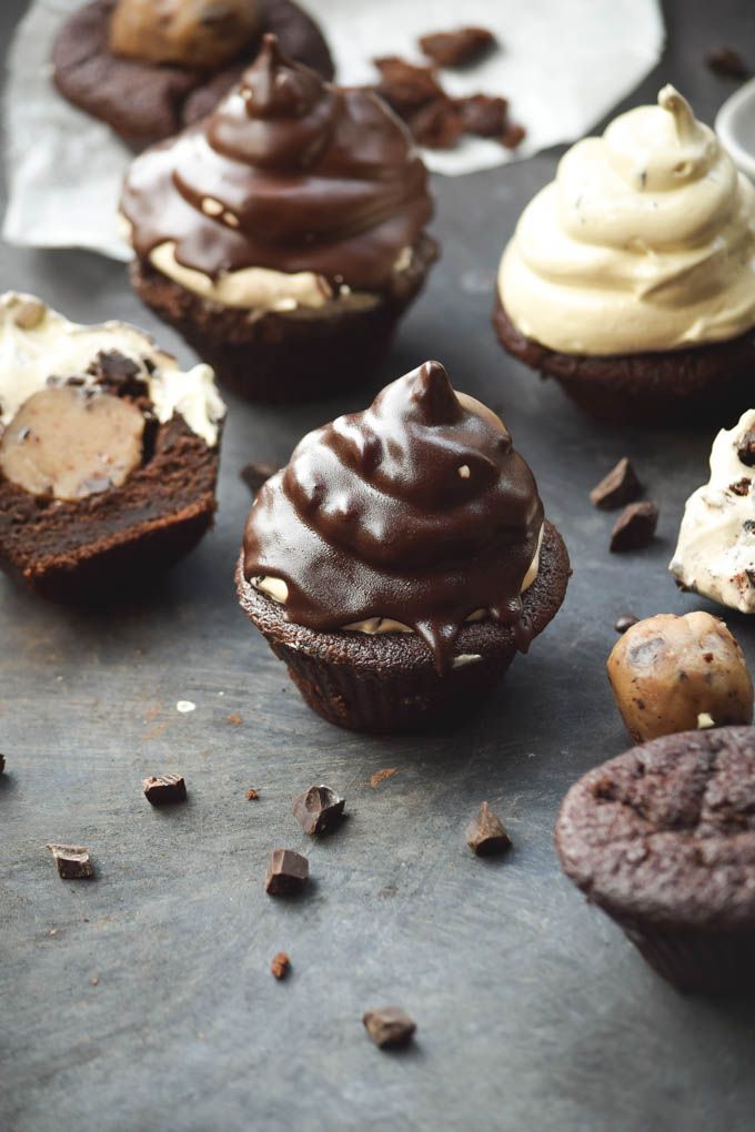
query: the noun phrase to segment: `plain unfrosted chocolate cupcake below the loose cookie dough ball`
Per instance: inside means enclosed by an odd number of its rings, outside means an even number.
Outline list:
[[[680,990],[755,988],[755,728],[667,735],[561,804],[567,876]]]

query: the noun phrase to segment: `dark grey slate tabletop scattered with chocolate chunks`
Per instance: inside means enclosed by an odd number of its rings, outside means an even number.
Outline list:
[[[23,7],[3,0],[0,42]],[[731,86],[702,55],[730,42],[755,63],[753,6],[677,0],[667,16],[663,65],[628,101],[670,79],[711,120]],[[306,429],[364,405],[363,389],[290,412],[229,397],[217,528],[146,603],[87,616],[0,582],[9,1132],[752,1127],[755,1011],[679,997],[584,904],[552,848],[568,784],[627,745],[603,670],[616,616],[700,604],[677,593],[666,564],[711,440],[597,427],[499,351],[488,321],[496,260],[552,171],[542,156],[437,182],[443,264],[383,372],[435,355],[501,409],[572,550],[561,615],[467,727],[411,740],[333,729],[308,713],[234,602],[249,505],[239,468],[283,460]],[[0,284],[72,318],[138,321],[188,360],[115,264],[2,247]],[[587,490],[625,453],[661,523],[652,549],[617,558],[611,516],[591,508]],[[755,662],[753,629],[730,624]],[[182,698],[192,714],[177,712]],[[174,770],[190,801],[154,811],[140,780]],[[352,816],[314,844],[290,804],[319,780],[348,796]],[[464,844],[482,798],[514,838],[503,863]],[[59,881],[51,840],[88,846],[98,878]],[[304,899],[263,891],[278,844],[309,852]],[[268,972],[281,949],[293,962],[284,984]],[[419,1023],[401,1055],[362,1032],[362,1011],[387,1002]]]

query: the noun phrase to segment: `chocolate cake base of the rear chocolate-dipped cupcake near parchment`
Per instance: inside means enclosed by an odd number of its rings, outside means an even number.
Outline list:
[[[393,290],[368,308],[328,314],[249,311],[187,291],[135,260],[131,282],[147,307],[183,336],[224,385],[250,401],[312,401],[369,378],[396,323],[420,292],[437,245],[422,234]]]

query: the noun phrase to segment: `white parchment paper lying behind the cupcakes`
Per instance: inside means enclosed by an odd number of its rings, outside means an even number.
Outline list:
[[[10,51],[3,235],[10,243],[128,259],[115,207],[132,154],[109,127],[69,105],[50,78],[55,33],[80,3],[32,0]],[[430,169],[449,175],[582,136],[658,62],[664,35],[658,0],[311,0],[309,7],[344,84],[374,82],[370,60],[378,55],[420,62],[417,38],[427,32],[465,23],[497,34],[499,51],[471,69],[444,70],[443,82],[454,95],[507,97],[526,140],[515,154],[482,138],[451,152],[426,151]]]

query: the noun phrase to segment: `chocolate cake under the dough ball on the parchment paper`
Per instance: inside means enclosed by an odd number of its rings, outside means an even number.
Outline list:
[[[108,122],[135,148],[172,137],[214,110],[254,61],[266,32],[277,35],[286,55],[333,78],[320,29],[291,0],[259,0],[259,35],[239,59],[214,71],[113,54],[109,29],[115,3],[94,0],[63,24],[52,50],[53,79],[69,102]]]

